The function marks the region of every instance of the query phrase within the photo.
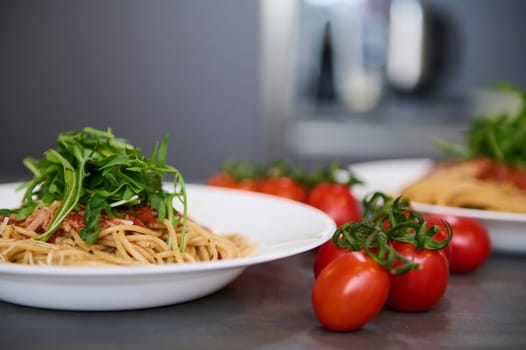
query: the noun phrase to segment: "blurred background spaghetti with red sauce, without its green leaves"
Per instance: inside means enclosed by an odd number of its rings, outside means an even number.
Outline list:
[[[427,204],[526,213],[526,190],[509,176],[495,175],[504,171],[488,176],[488,162],[476,159],[437,165],[405,187],[401,195]]]

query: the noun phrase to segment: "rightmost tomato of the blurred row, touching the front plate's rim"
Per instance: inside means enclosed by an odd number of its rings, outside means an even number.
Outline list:
[[[307,198],[307,204],[325,212],[337,226],[358,221],[361,217],[360,204],[346,185],[337,183],[316,185]]]

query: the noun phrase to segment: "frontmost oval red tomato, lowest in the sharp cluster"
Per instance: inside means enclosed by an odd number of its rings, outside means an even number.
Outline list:
[[[332,331],[363,327],[383,308],[388,273],[362,252],[342,255],[319,274],[311,302],[321,324]]]

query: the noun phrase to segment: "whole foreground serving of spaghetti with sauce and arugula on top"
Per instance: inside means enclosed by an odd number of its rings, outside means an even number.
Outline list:
[[[166,136],[147,158],[111,130],[84,128],[60,134],[43,159],[26,158],[34,177],[22,186],[21,206],[0,209],[0,263],[144,265],[250,254],[245,237],[218,235],[188,218],[167,143]],[[173,192],[163,188],[168,174]]]

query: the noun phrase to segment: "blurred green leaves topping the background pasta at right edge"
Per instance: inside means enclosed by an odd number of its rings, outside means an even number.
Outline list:
[[[465,145],[442,140],[437,140],[437,145],[464,159],[488,157],[506,165],[526,166],[526,90],[504,82],[496,88],[520,98],[521,108],[516,115],[501,112],[477,116],[466,133]]]

